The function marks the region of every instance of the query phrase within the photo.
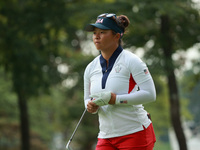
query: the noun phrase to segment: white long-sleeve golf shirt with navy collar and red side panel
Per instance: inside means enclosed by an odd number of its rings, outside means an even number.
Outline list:
[[[123,136],[150,125],[142,104],[155,101],[155,86],[146,64],[135,54],[119,46],[108,67],[102,55],[88,64],[84,73],[85,107],[89,95],[104,91],[117,95],[116,104],[99,108],[98,138]]]

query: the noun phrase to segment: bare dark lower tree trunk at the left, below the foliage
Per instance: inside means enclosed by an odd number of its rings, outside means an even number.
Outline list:
[[[25,95],[17,91],[18,106],[20,110],[21,150],[30,150],[29,116]]]

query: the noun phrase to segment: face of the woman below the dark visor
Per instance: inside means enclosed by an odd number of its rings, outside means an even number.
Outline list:
[[[93,42],[98,50],[109,50],[118,44],[117,34],[113,34],[112,30],[102,30],[95,28],[93,33]]]

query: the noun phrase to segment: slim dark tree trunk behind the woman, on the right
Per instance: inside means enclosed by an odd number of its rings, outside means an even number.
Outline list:
[[[180,119],[180,104],[176,77],[174,74],[174,65],[172,60],[173,53],[173,38],[170,31],[170,19],[166,16],[161,16],[161,43],[164,52],[166,76],[168,80],[169,98],[170,98],[170,116],[172,125],[179,143],[180,150],[187,150],[185,135],[183,132]]]

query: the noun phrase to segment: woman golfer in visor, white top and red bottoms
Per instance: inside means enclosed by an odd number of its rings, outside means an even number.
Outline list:
[[[96,150],[152,150],[156,141],[142,104],[156,99],[154,82],[145,63],[123,50],[127,16],[102,14],[85,30],[101,52],[85,69],[84,102],[99,115]]]

